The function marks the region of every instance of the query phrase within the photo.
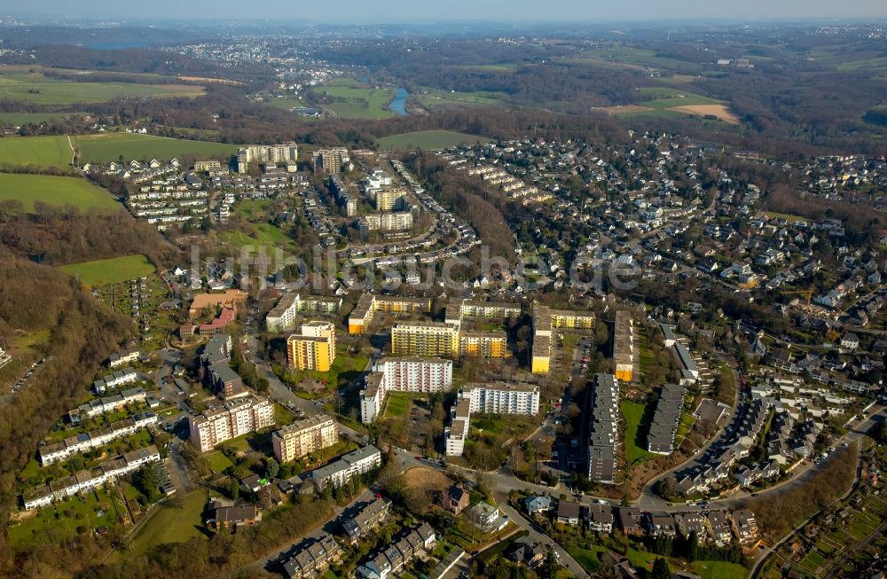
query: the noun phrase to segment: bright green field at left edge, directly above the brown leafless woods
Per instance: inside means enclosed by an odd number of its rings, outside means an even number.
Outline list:
[[[28,213],[35,201],[50,205],[74,205],[81,210],[118,209],[120,203],[108,192],[80,177],[0,173],[0,201],[20,200]]]

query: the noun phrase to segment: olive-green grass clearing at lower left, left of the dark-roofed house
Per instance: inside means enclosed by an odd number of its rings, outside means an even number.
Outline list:
[[[131,537],[129,552],[114,552],[112,560],[140,557],[154,547],[168,543],[183,543],[192,536],[200,536],[202,513],[207,504],[205,489],[193,490],[182,499],[181,507],[161,504],[149,512],[151,518]]]

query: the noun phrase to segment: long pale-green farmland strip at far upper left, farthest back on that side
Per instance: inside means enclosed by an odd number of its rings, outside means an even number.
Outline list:
[[[52,79],[40,72],[0,70],[0,99],[35,105],[104,103],[120,97],[200,97],[203,87],[136,82],[74,82]]]

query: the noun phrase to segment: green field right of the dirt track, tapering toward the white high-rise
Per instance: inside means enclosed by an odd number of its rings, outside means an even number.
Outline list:
[[[183,155],[200,157],[225,157],[237,153],[237,145],[192,141],[188,139],[134,135],[131,133],[105,133],[103,135],[80,135],[74,138],[74,145],[80,153],[81,164],[106,163],[118,160],[169,160]]]

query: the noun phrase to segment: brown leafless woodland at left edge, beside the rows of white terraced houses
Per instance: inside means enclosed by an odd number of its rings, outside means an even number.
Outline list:
[[[33,457],[37,442],[59,416],[82,400],[86,378],[127,338],[130,323],[98,305],[61,271],[2,248],[0,295],[4,296],[0,333],[11,335],[15,329],[51,333],[39,386],[23,389],[0,408],[0,525],[5,526],[21,490],[16,473]],[[21,576],[20,569],[5,534],[0,534],[0,575]]]

